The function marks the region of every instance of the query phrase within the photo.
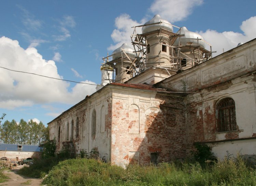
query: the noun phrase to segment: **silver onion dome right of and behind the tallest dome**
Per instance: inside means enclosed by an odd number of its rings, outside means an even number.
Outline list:
[[[177,31],[177,34],[184,34],[184,36],[177,38],[173,45],[179,45],[179,40],[181,41],[181,45],[200,45],[201,47],[205,47],[205,43],[202,41],[203,37],[196,33],[189,31],[186,27],[181,27],[179,31]],[[198,40],[197,38],[202,39]]]

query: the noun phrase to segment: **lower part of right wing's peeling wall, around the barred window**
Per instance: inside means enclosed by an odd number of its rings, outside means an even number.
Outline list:
[[[233,139],[244,139],[252,138],[256,135],[256,92],[255,92],[255,81],[256,74],[249,73],[244,76],[234,78],[231,81],[208,87],[202,90],[202,92],[212,92],[209,94],[193,94],[186,97],[187,103],[187,133],[188,133],[188,144],[194,142],[210,142],[210,141],[221,141],[221,140],[233,140]],[[215,94],[215,92],[221,92]],[[217,120],[216,120],[216,103],[222,98],[230,97],[234,100],[236,106],[236,121],[237,130],[228,132],[217,131]],[[216,155],[220,155],[223,158],[223,153],[226,154],[226,150],[221,152],[222,149],[226,148],[227,145],[234,147],[232,153],[243,152],[245,142],[236,142],[233,145],[231,142],[226,143],[215,143],[213,152]],[[255,146],[256,140],[250,141],[249,146]],[[188,147],[189,152],[193,147]],[[250,151],[246,151],[246,154],[256,154],[255,148],[248,148]]]

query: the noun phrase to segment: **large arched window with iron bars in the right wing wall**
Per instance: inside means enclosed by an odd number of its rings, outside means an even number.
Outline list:
[[[232,98],[224,98],[216,105],[218,132],[237,129],[236,107]]]

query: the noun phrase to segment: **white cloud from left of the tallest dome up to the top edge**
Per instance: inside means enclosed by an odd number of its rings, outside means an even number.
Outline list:
[[[190,15],[196,6],[203,3],[203,0],[155,0],[150,6],[150,14],[160,14],[161,17],[167,19],[169,22],[174,23],[180,20],[184,20]],[[152,15],[153,17],[153,15]],[[143,25],[147,19],[142,18],[139,22],[131,19],[130,15],[122,14],[115,19],[115,29],[111,34],[111,38],[114,41],[114,45],[110,45],[108,50],[114,50],[121,46],[123,43],[127,43],[131,46],[131,34],[133,33],[133,26]],[[137,33],[141,33],[141,27],[136,28]]]

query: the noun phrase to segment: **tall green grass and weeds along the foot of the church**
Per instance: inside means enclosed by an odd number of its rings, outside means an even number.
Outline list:
[[[36,163],[33,164],[33,166]],[[49,168],[51,167],[51,168]],[[48,186],[255,186],[256,169],[238,158],[196,163],[161,163],[158,166],[129,165],[126,169],[95,159],[52,161],[48,169],[38,168],[38,175],[48,174]],[[28,168],[29,169],[29,168]],[[32,169],[32,167],[30,167]],[[21,169],[22,171],[23,169]],[[47,170],[49,170],[47,172]],[[20,171],[20,172],[21,172]],[[33,172],[26,170],[27,173]],[[41,172],[40,172],[41,171]],[[39,174],[40,172],[40,174]],[[34,173],[33,173],[34,175]]]

